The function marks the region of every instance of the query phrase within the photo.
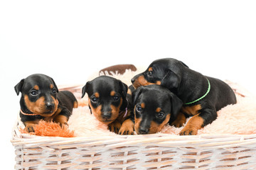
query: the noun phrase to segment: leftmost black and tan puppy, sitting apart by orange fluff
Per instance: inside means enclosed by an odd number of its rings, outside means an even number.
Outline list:
[[[68,125],[68,118],[78,101],[70,91],[58,91],[52,78],[44,74],[32,74],[14,86],[16,94],[21,92],[21,121],[27,132],[34,132],[39,120]]]

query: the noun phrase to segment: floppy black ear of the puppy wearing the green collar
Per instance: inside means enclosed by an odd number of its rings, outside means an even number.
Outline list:
[[[170,69],[161,80],[161,86],[165,86],[167,89],[177,89],[180,83],[181,78]]]

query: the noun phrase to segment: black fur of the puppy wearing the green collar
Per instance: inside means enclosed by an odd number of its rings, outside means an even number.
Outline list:
[[[139,77],[143,77],[147,83],[156,84],[161,82],[161,86],[174,92],[178,98],[181,98],[184,106],[201,106],[198,114],[203,118],[203,126],[212,123],[217,118],[216,111],[229,104],[235,104],[236,98],[233,90],[225,82],[212,77],[203,76],[203,74],[189,69],[181,61],[165,58],[152,62],[145,72],[132,78],[135,87],[144,86],[139,83]],[[210,92],[200,101],[186,105],[201,98],[208,90],[208,80],[210,81]],[[192,114],[185,114],[187,117]],[[181,134],[182,135],[182,134]]]

